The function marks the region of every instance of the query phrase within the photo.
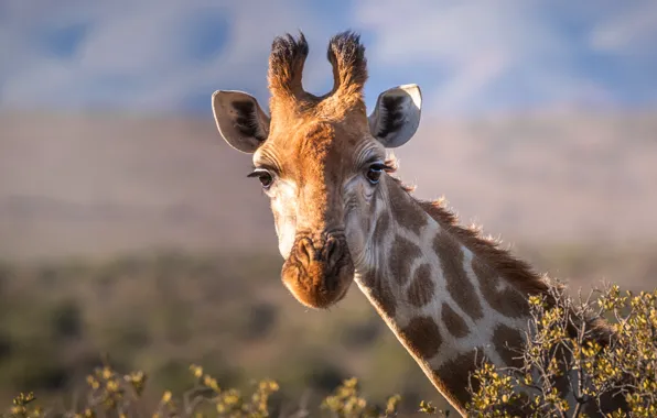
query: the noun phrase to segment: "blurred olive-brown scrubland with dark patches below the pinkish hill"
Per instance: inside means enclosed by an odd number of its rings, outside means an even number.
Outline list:
[[[574,289],[603,277],[654,287],[649,277],[657,276],[657,248],[525,254]],[[359,376],[371,405],[399,394],[401,410],[416,411],[422,399],[429,409],[446,408],[355,285],[330,311],[310,310],[280,283],[281,264],[270,253],[175,251],[0,263],[0,405],[30,391],[49,405],[78,405],[89,371],[110,362],[149,376],[141,394],[148,408],[165,391],[181,396],[194,384],[190,364],[240,391],[252,378],[273,378],[277,405],[320,405]]]

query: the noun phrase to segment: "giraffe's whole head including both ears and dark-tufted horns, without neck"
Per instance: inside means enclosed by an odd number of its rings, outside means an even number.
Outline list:
[[[302,33],[273,41],[270,116],[241,91],[218,90],[212,101],[222,136],[254,155],[249,176],[270,198],[283,283],[303,305],[326,308],[346,295],[365,257],[385,194],[386,148],[414,134],[421,95],[416,85],[386,90],[368,117],[359,36],[345,32],[328,43],[334,85],[321,97],[302,87],[308,52]]]

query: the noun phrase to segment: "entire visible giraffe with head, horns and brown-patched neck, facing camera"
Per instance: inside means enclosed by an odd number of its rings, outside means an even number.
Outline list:
[[[212,97],[220,135],[252,154],[248,176],[270,199],[282,283],[299,302],[325,309],[356,282],[435,388],[465,415],[477,355],[517,365],[528,297],[546,294],[549,285],[527,263],[459,226],[440,202],[414,198],[394,176],[387,150],[416,133],[419,86],[381,92],[368,116],[359,35],[331,38],[334,85],[323,96],[302,87],[308,54],[303,33],[274,38],[270,116],[243,91]]]

